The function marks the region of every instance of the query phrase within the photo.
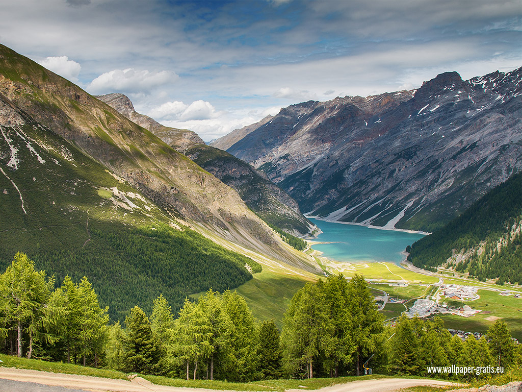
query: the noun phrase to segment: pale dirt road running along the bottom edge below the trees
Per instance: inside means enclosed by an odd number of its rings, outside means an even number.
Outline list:
[[[40,387],[38,384],[41,384]],[[334,385],[320,390],[321,392],[388,392],[418,385],[441,386],[450,384],[452,383],[437,380],[385,378],[353,381],[351,383]],[[73,388],[74,390],[68,388]],[[78,392],[78,390],[93,392],[229,392],[155,385],[141,377],[136,377],[131,382],[122,379],[0,367],[0,392]],[[294,389],[288,392],[296,391],[303,392],[303,389]]]

